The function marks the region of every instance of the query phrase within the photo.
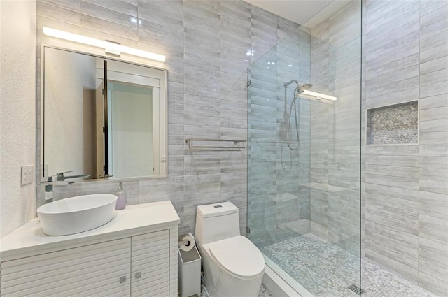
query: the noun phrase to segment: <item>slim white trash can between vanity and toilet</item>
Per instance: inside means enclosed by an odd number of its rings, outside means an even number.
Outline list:
[[[201,255],[196,246],[188,252],[178,252],[179,291],[181,297],[201,296]]]

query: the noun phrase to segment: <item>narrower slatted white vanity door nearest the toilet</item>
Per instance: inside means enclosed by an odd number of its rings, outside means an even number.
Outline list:
[[[169,296],[169,230],[132,237],[131,295]]]

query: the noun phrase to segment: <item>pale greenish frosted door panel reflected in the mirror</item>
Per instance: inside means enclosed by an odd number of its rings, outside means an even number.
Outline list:
[[[120,178],[153,175],[153,119],[148,117],[153,88],[109,81],[107,89],[109,173]]]

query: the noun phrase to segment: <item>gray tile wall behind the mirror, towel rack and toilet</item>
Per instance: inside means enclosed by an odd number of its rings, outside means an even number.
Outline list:
[[[38,30],[45,25],[167,56],[168,177],[125,180],[127,203],[169,199],[181,225],[194,231],[197,205],[232,201],[245,234],[246,151],[188,152],[185,139],[246,140],[246,69],[297,24],[229,0],[38,0],[37,15]],[[113,193],[117,186],[84,182],[55,187],[55,196]]]

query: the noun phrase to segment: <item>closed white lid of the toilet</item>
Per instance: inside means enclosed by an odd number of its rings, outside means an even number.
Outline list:
[[[209,249],[219,266],[235,277],[247,279],[265,270],[260,250],[244,236],[213,242]]]

